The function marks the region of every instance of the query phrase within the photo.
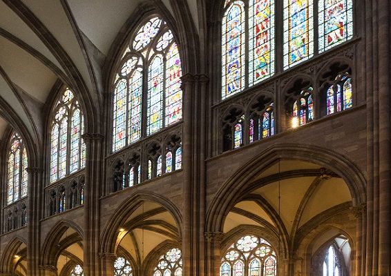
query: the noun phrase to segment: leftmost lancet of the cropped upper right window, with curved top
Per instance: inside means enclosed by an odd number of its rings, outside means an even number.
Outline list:
[[[233,2],[222,22],[222,99],[225,99],[245,87],[245,4]]]

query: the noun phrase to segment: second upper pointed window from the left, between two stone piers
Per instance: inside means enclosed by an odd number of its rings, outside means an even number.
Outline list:
[[[62,86],[52,106],[48,121],[48,185],[57,183],[69,175],[83,170],[86,166],[86,142],[82,137],[86,130],[86,119],[82,102],[75,95],[74,90]],[[61,115],[61,112],[64,113]],[[79,112],[79,124],[73,125],[73,118],[77,114],[76,112]],[[66,141],[61,142],[61,124],[63,121],[66,122]],[[56,126],[57,138],[53,136],[55,135]],[[76,152],[75,148],[73,148],[76,144],[72,143],[73,138],[75,138],[72,135],[74,128],[78,128],[77,140],[75,140],[77,141],[77,147],[75,147],[77,148],[77,168],[72,167],[75,164],[75,160],[72,160],[74,156],[73,151]],[[66,147],[63,161],[61,161],[61,145]],[[56,153],[55,150],[57,150]],[[61,165],[61,163],[64,165]],[[64,167],[61,169],[61,166]],[[53,173],[54,168],[56,168],[55,173]],[[64,170],[64,172],[61,173],[60,170]]]

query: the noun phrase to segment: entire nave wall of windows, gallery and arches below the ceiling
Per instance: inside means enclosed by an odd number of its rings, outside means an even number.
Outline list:
[[[58,79],[39,139],[8,125],[0,276],[362,275],[355,1],[211,2],[207,39],[168,9],[132,14],[102,116]],[[198,39],[213,59],[193,75]]]

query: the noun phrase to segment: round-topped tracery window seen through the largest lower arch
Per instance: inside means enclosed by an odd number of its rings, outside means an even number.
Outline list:
[[[251,244],[248,242],[251,240]],[[248,248],[246,248],[248,246]],[[235,276],[236,269],[241,269],[241,275],[250,276],[251,266],[255,260],[259,262],[258,275],[265,274],[266,262],[274,259],[274,275],[278,275],[278,255],[274,247],[258,235],[242,235],[222,252],[220,259],[220,276]],[[240,264],[240,266],[238,266]],[[228,270],[227,270],[228,268]],[[240,275],[240,273],[239,273]]]

